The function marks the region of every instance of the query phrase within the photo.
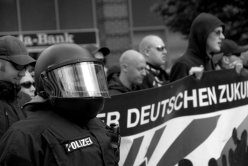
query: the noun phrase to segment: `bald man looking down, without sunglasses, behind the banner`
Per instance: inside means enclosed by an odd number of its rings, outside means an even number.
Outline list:
[[[120,73],[109,80],[110,95],[139,90],[146,75],[146,60],[135,50],[127,50],[120,57]]]

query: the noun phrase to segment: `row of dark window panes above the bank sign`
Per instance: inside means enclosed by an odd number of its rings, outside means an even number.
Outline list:
[[[93,29],[92,0],[1,0],[0,33]]]

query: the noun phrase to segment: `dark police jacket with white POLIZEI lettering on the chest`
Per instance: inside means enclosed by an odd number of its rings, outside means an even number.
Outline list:
[[[0,165],[118,165],[118,132],[98,118],[79,126],[54,113],[49,104],[38,107],[28,106],[29,117],[3,137]]]

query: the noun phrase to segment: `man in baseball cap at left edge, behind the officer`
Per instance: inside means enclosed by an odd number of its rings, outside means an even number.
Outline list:
[[[13,36],[0,37],[0,138],[16,121],[25,118],[21,110],[20,79],[27,65],[35,63],[23,42]]]

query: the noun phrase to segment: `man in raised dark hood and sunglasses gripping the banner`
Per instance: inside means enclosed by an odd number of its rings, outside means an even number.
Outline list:
[[[224,24],[217,17],[208,13],[198,15],[190,28],[187,50],[171,69],[170,81],[214,70],[212,55],[220,52],[223,31]]]

